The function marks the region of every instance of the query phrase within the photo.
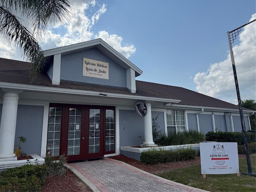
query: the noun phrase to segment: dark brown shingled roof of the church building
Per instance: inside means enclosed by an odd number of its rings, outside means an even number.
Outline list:
[[[95,92],[106,92],[113,94],[124,94],[132,96],[144,96],[149,98],[163,98],[170,100],[181,100],[178,105],[185,106],[204,106],[212,108],[227,108],[236,109],[238,106],[188,90],[182,87],[156,84],[152,82],[136,81],[136,93],[129,92],[126,88],[113,86],[100,86],[96,84],[87,84],[79,82],[70,82],[61,80],[60,85],[53,85],[46,73],[36,77],[34,82],[31,82],[29,77],[29,63],[0,58],[0,82],[13,84],[26,84],[43,87],[65,88],[71,90],[84,90]]]

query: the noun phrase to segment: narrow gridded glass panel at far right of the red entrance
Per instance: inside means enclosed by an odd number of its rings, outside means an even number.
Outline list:
[[[114,135],[114,110],[106,110],[106,117],[105,117],[105,151],[114,151],[114,144],[115,144],[115,135]]]

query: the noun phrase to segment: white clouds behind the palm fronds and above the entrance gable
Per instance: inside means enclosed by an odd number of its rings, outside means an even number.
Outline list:
[[[107,11],[106,4],[97,4],[95,0],[76,0],[72,3],[73,9],[69,22],[65,26],[61,26],[58,22],[55,23],[54,27],[49,28],[46,34],[38,40],[43,50],[102,38],[126,58],[135,53],[134,45],[123,45],[121,43],[122,37],[116,34],[108,34],[106,31],[95,32],[92,30],[92,27]],[[23,59],[19,53],[16,53],[20,52],[20,50],[17,50],[14,46],[6,45],[3,38],[0,38],[0,51],[0,57],[16,60]]]

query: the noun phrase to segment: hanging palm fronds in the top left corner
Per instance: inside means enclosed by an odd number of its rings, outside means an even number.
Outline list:
[[[26,17],[32,24],[32,31],[40,37],[52,22],[65,24],[70,16],[68,0],[1,0],[0,35],[13,42],[30,62],[30,78],[33,81],[42,72],[44,56],[42,48],[26,26],[17,16]]]

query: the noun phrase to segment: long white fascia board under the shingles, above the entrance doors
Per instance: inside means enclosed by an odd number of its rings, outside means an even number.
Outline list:
[[[52,93],[63,93],[63,94],[74,94],[74,95],[88,95],[88,96],[103,96],[110,98],[121,98],[121,99],[130,99],[130,100],[148,100],[156,102],[172,102],[178,103],[181,100],[175,99],[165,99],[165,98],[154,98],[154,97],[144,97],[144,96],[134,96],[126,94],[113,94],[108,92],[93,92],[93,91],[84,91],[84,90],[75,90],[75,89],[65,89],[65,88],[56,88],[56,87],[44,87],[36,85],[26,85],[26,84],[14,84],[14,83],[4,83],[0,82],[1,88],[12,88],[12,89],[23,89],[23,90],[33,90],[33,91],[42,91],[42,92],[52,92]]]

